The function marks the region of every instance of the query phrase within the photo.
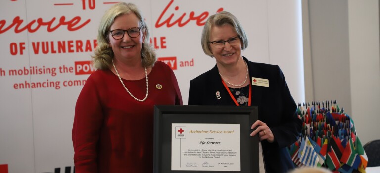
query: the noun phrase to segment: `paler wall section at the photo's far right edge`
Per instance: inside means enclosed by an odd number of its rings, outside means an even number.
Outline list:
[[[352,117],[362,143],[380,139],[379,0],[348,0]]]

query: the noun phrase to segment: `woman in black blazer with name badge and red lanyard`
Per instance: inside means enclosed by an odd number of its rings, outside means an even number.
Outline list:
[[[202,48],[216,65],[190,81],[189,105],[258,106],[251,136],[262,143],[266,172],[286,173],[294,168],[286,147],[297,140],[302,121],[279,66],[248,61],[241,55],[247,46],[234,15],[222,11],[207,19]]]

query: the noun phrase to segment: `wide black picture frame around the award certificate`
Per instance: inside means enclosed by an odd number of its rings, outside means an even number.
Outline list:
[[[257,106],[154,106],[153,173],[221,172],[171,170],[172,123],[240,124],[241,170],[223,173],[259,173],[259,140],[250,136],[256,120]]]

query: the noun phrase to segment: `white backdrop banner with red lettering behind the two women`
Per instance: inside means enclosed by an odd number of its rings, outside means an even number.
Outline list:
[[[0,173],[72,173],[76,99],[111,0],[0,1]],[[189,82],[215,65],[201,48],[206,19],[229,11],[249,39],[243,55],[279,65],[304,100],[299,0],[129,0],[152,31],[158,60],[174,70],[184,104]],[[281,3],[280,7],[278,7]]]

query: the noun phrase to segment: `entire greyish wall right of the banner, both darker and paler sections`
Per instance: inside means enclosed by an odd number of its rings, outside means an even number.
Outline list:
[[[336,99],[363,144],[380,139],[379,1],[302,2],[306,100]]]

